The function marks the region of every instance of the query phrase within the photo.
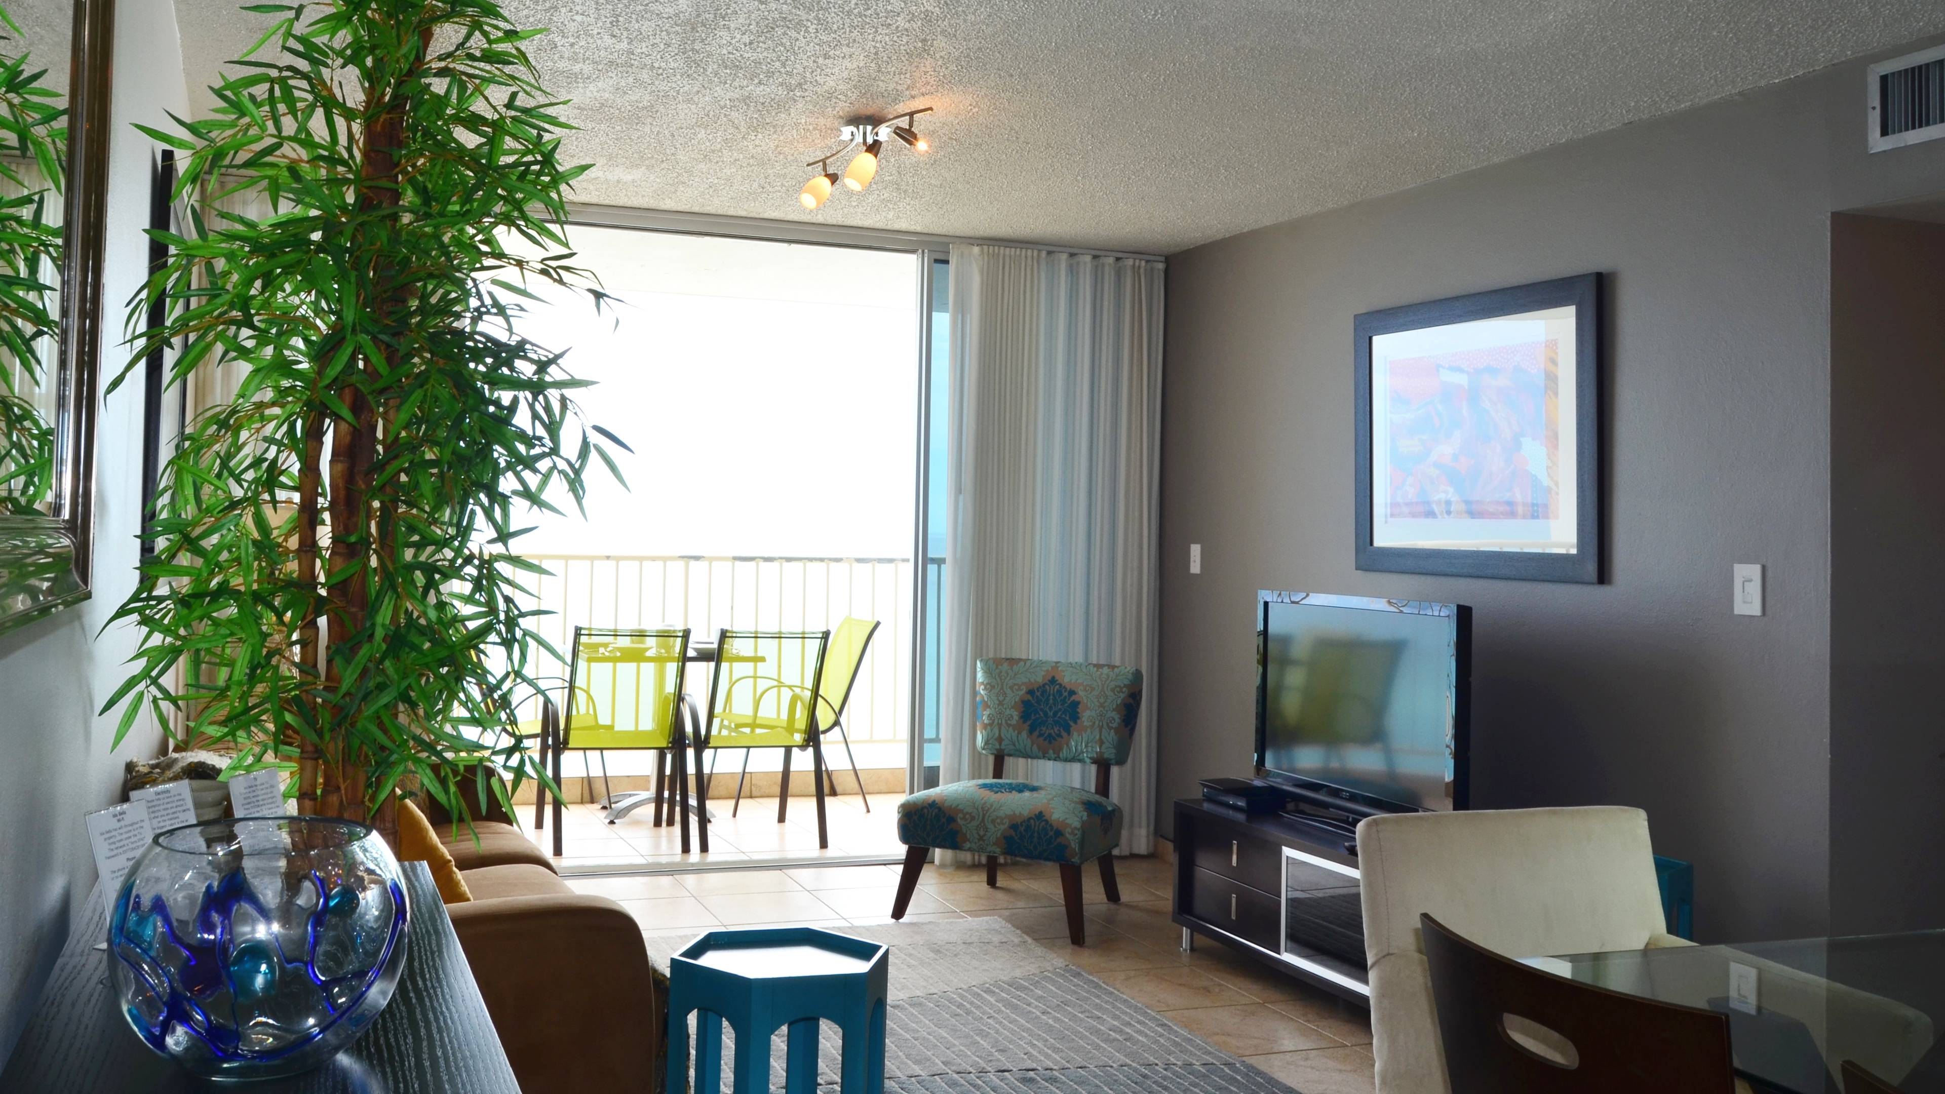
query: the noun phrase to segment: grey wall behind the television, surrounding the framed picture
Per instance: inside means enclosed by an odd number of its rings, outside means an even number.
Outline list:
[[[1945,142],[1865,156],[1861,64],[1171,259],[1163,802],[1249,769],[1255,590],[1461,602],[1478,808],[1642,806],[1704,936],[1826,925],[1828,222],[1945,187]],[[1587,271],[1607,582],[1356,570],[1352,315]]]

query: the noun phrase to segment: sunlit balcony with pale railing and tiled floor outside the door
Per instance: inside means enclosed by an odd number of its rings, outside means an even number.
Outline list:
[[[743,773],[743,753],[710,753],[716,777],[710,784],[712,853],[683,855],[675,827],[654,827],[648,808],[620,823],[601,821],[593,802],[620,790],[646,790],[654,779],[654,753],[607,751],[568,753],[562,790],[570,802],[564,870],[605,870],[749,858],[854,858],[897,857],[902,847],[895,833],[893,806],[906,788],[912,740],[912,561],[834,559],[834,557],[729,557],[729,555],[525,555],[545,566],[531,574],[523,607],[548,611],[535,619],[539,631],[562,656],[574,644],[574,627],[689,627],[696,642],[714,640],[720,629],[737,631],[825,631],[846,615],[877,619],[866,660],[858,670],[844,730],[850,738],[864,788],[871,794],[866,814],[858,798],[842,742],[825,742],[825,761],[832,771],[836,798],[831,802],[831,849],[817,849],[815,806],[807,765],[794,763],[788,821],[776,821],[782,749],[749,753],[739,816],[729,816],[729,798]],[[930,568],[937,568],[936,565]],[[529,672],[539,679],[564,679],[568,666],[545,648],[533,648]],[[706,707],[710,666],[690,666],[687,691],[696,707]],[[932,703],[926,705],[932,709]],[[521,718],[539,716],[539,697]],[[928,718],[930,722],[932,718]],[[936,765],[937,742],[926,740],[926,763]],[[523,792],[525,802],[533,802]],[[525,823],[533,810],[521,810]],[[550,847],[550,837],[543,843]]]

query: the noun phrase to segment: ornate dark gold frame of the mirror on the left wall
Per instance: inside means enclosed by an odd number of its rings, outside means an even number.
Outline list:
[[[113,47],[115,0],[74,0],[68,193],[62,202],[60,360],[54,368],[53,512],[0,516],[0,631],[80,603],[93,586],[95,415]]]

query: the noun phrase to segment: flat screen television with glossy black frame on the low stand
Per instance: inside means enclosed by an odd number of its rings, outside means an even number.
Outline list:
[[[1463,810],[1472,609],[1256,594],[1256,767],[1352,818]]]

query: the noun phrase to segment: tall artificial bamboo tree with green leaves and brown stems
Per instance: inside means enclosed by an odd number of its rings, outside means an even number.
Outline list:
[[[393,831],[401,784],[463,816],[461,773],[539,775],[496,734],[537,687],[512,553],[527,506],[613,461],[556,350],[519,333],[572,267],[552,111],[492,0],[251,4],[274,25],[175,130],[189,226],[130,302],[171,382],[239,364],[165,467],[136,592],[142,697],[237,769],[296,769],[300,812]],[[272,212],[245,216],[235,195]],[[150,304],[163,321],[148,321]],[[130,364],[132,370],[132,364]],[[128,372],[123,372],[126,378]],[[173,712],[173,718],[171,718]],[[498,788],[498,783],[480,781]]]

